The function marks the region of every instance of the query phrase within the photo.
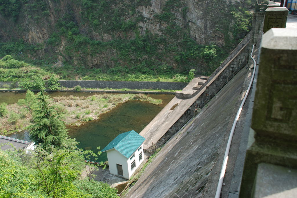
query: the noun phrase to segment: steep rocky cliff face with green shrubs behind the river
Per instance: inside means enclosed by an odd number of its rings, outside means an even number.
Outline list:
[[[1,56],[22,52],[49,65],[106,71],[127,66],[151,73],[167,64],[181,71],[200,65],[205,72],[203,66],[212,66],[205,49],[222,58],[219,48],[248,32],[248,7],[226,0],[21,0],[0,6]],[[11,49],[11,41],[27,47]]]

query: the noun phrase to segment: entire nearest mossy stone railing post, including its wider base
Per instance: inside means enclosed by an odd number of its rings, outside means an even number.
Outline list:
[[[283,170],[296,173],[297,178],[296,54],[296,29],[271,28],[263,35],[251,124],[255,139],[247,150],[239,197],[262,197],[272,191],[288,190],[285,181],[274,182],[269,179],[274,176],[260,175],[269,172],[271,165],[279,169],[273,171],[277,178]],[[259,185],[264,191],[257,188]],[[297,182],[293,185],[297,189]]]

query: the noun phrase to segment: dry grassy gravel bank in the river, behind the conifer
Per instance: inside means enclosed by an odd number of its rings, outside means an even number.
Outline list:
[[[162,104],[162,100],[153,99],[143,94],[101,94],[92,96],[59,96],[53,97],[53,104],[64,113],[66,125],[81,125],[86,121],[97,120],[100,114],[110,111],[117,104],[128,100],[147,101]],[[32,110],[22,103],[7,105],[9,113],[0,117],[0,133],[7,134],[26,129],[31,125]]]

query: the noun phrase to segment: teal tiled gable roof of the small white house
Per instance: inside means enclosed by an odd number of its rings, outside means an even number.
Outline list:
[[[104,147],[101,152],[116,149],[122,155],[129,158],[144,141],[145,138],[136,133],[134,130],[128,131],[116,136],[116,138]]]

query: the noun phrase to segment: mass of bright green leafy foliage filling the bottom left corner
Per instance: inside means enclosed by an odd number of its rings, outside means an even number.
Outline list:
[[[108,184],[80,180],[86,165],[83,153],[74,145],[63,149],[37,146],[31,154],[24,150],[0,150],[0,197],[10,194],[10,198],[115,198],[116,189]]]

